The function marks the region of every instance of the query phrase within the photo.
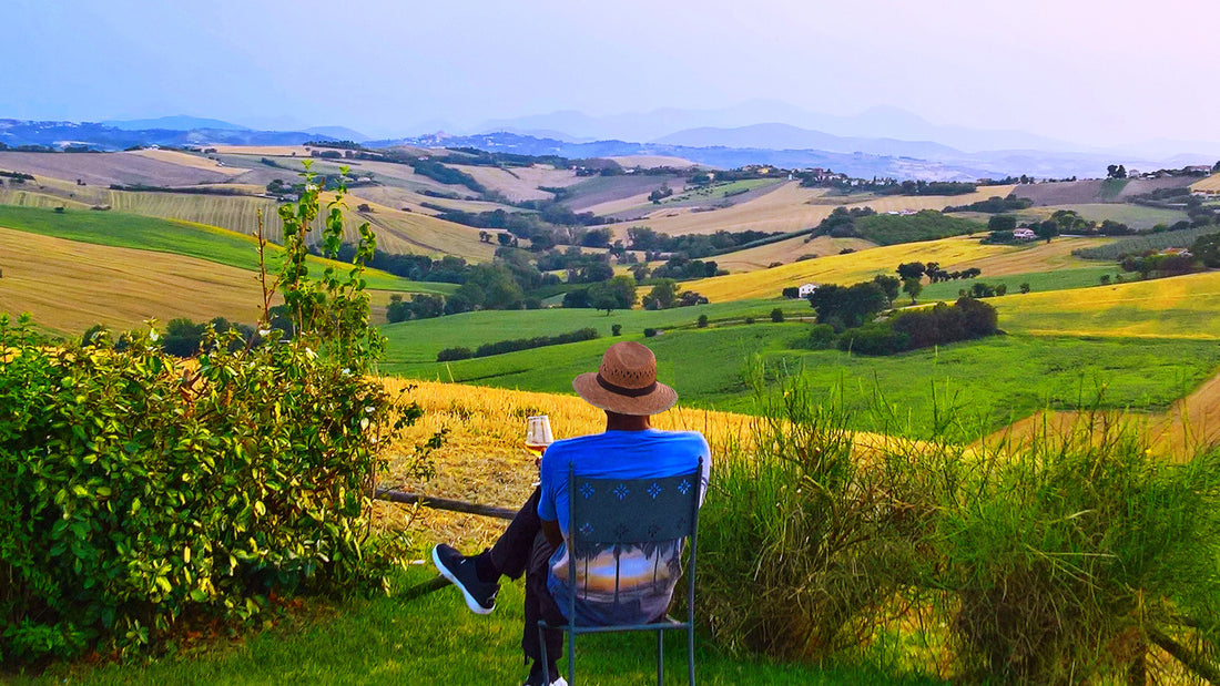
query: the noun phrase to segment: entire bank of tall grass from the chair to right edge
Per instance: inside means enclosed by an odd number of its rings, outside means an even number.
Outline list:
[[[1220,677],[1220,450],[1165,462],[1103,412],[864,448],[820,397],[787,381],[716,464],[698,597],[717,642],[824,660],[898,628],[904,663],[971,682]]]

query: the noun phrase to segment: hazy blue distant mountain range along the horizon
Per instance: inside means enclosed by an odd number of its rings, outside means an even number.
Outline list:
[[[853,177],[927,180],[1021,174],[1088,178],[1103,175],[1111,163],[1138,169],[1179,168],[1211,163],[1220,157],[1220,144],[1161,140],[1132,146],[1143,152],[1081,150],[1025,132],[937,126],[897,107],[874,107],[844,117],[772,101],[722,110],[670,108],[608,117],[561,111],[484,122],[467,135],[438,133],[372,141],[345,127],[259,130],[187,115],[101,123],[0,119],[0,143],[10,147],[76,144],[122,150],[151,144],[299,145],[309,140],[354,140],[370,146],[470,146],[570,158],[665,155],[720,168],[824,167]]]

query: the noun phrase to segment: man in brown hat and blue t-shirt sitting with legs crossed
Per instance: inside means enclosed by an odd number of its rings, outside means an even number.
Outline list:
[[[517,512],[495,545],[464,557],[448,545],[432,550],[432,560],[458,586],[466,606],[478,614],[495,609],[500,576],[526,576],[525,631],[521,647],[532,660],[526,686],[543,684],[538,620],[564,624],[572,589],[567,579],[569,465],[580,476],[650,479],[675,476],[703,461],[703,491],[711,462],[708,441],[694,431],[661,431],[649,417],[677,402],[673,389],[656,381],[653,351],[636,342],[606,350],[598,372],[581,374],[572,387],[606,413],[603,434],[556,441],[542,459],[542,483]],[[665,614],[681,574],[682,541],[627,547],[615,559],[609,550],[582,553],[577,619],[587,624],[643,624]],[[616,567],[619,570],[616,579]],[[549,660],[562,653],[564,635],[547,632]],[[566,686],[555,664],[549,686]]]

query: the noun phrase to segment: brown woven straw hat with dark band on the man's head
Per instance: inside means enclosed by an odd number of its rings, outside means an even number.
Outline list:
[[[572,379],[572,387],[593,407],[619,414],[660,414],[678,401],[673,389],[658,383],[653,351],[631,341],[610,346],[601,367]]]

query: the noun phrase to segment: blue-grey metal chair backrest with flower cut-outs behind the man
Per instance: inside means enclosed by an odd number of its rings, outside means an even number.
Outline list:
[[[573,590],[570,617],[576,617],[575,602],[580,595],[575,592],[578,558],[608,546],[647,547],[682,539],[687,541],[688,599],[693,607],[703,461],[694,472],[676,476],[593,479],[569,468],[567,478],[569,587]]]

